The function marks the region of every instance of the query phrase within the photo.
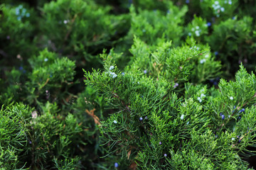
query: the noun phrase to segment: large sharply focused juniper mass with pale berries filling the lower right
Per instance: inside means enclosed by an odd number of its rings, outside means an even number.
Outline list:
[[[111,57],[105,56],[104,60],[105,72],[85,72],[85,83],[98,89],[114,109],[100,125],[102,139],[109,148],[107,155],[128,159],[129,164],[135,160],[142,169],[246,169],[247,163],[239,154],[255,143],[255,133],[252,129],[247,133],[241,130],[247,118],[240,122],[235,118],[237,114],[228,116],[227,112],[233,106],[250,108],[250,103],[255,103],[254,74],[247,74],[241,66],[234,83],[221,80],[218,93],[209,97],[207,86],[193,88],[187,84],[188,99],[182,99],[169,92],[173,90],[166,84],[169,79],[152,79],[136,67],[120,74]],[[243,112],[250,111],[239,110],[238,114]],[[249,127],[254,127],[254,122]]]

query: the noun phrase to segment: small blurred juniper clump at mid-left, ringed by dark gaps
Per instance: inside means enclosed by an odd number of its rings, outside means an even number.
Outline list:
[[[30,60],[30,64],[33,71],[28,75],[30,81],[26,82],[26,89],[30,94],[27,97],[28,102],[38,101],[38,98],[45,94],[46,99],[50,101],[63,100],[67,95],[65,93],[68,85],[73,81],[75,62],[68,60],[67,57],[58,58],[54,53],[43,50],[38,57]],[[64,91],[62,84],[65,84]],[[56,98],[57,96],[60,98]]]

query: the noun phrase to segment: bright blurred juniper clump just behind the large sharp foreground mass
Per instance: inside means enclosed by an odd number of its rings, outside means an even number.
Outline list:
[[[220,62],[214,61],[206,45],[188,41],[186,45],[171,48],[171,42],[164,42],[153,52],[142,40],[135,38],[131,52],[131,68],[142,69],[152,77],[164,78],[173,86],[188,79],[201,83],[220,75]]]

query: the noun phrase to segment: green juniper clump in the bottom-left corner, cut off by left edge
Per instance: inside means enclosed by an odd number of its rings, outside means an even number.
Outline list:
[[[1,107],[0,111],[0,167],[4,169],[22,169],[26,164],[23,147],[27,145],[26,123],[31,108],[21,105]]]

